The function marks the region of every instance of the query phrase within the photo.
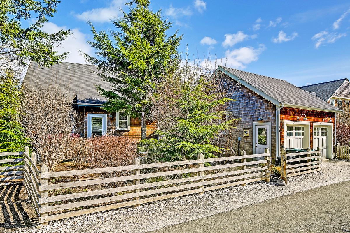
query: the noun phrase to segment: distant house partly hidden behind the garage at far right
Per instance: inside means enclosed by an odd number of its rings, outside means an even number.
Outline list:
[[[300,87],[307,92],[313,92],[316,96],[339,109],[349,107],[350,82],[348,79],[339,79],[329,82],[321,82]]]

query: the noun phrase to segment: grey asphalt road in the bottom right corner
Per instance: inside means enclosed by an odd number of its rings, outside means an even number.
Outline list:
[[[152,231],[181,232],[350,232],[350,181],[296,192]]]

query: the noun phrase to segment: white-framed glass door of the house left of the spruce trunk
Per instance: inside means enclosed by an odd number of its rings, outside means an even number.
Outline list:
[[[107,114],[87,114],[87,137],[107,134]]]

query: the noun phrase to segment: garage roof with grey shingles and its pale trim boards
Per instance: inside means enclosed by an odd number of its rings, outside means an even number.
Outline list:
[[[218,66],[222,71],[241,85],[249,88],[266,100],[280,106],[302,108],[318,111],[336,112],[338,109],[318,97],[281,79],[274,79],[259,74],[248,73],[224,66]]]

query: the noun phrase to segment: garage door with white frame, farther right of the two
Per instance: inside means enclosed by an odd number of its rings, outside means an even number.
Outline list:
[[[313,124],[313,150],[316,150],[317,147],[320,147],[321,159],[327,159],[332,157],[332,129],[332,123]]]

